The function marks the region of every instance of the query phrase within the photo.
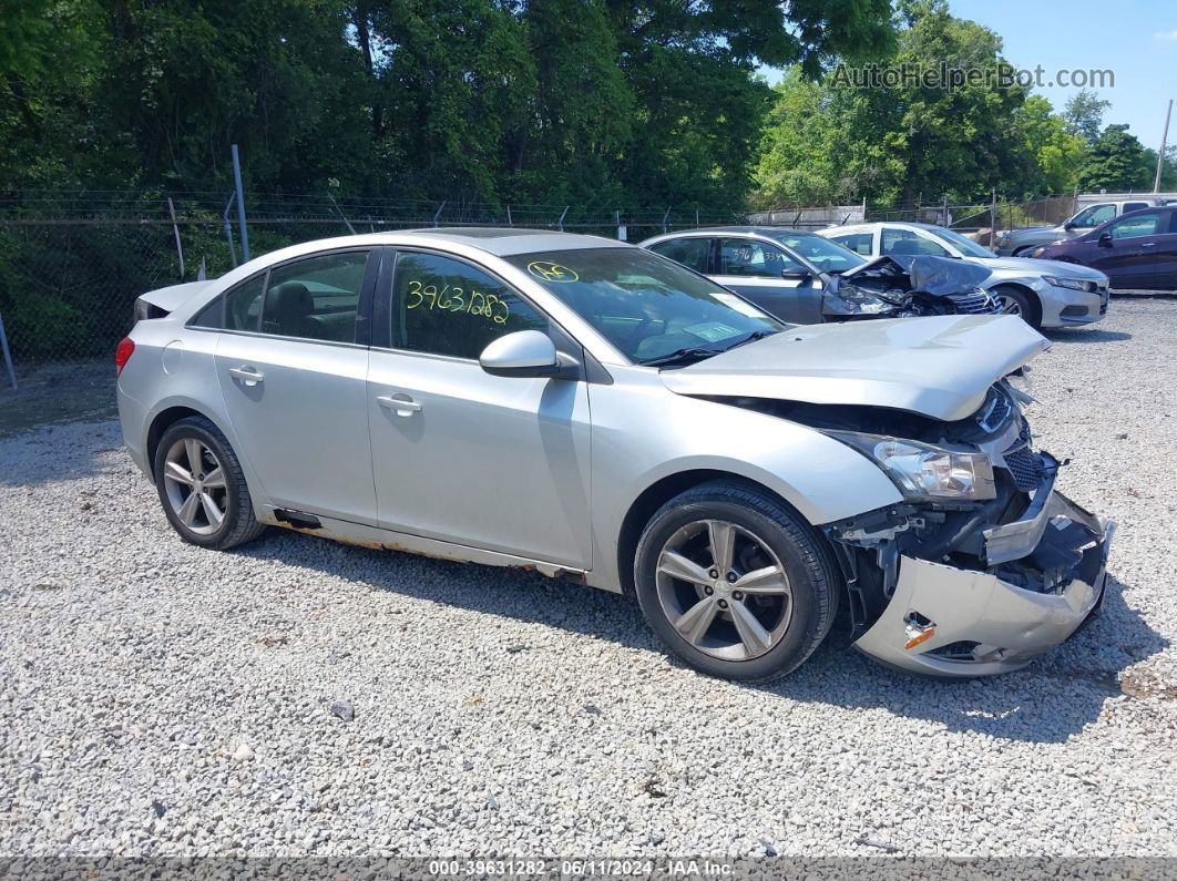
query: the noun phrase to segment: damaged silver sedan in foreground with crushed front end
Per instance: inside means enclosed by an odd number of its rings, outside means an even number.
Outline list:
[[[1111,529],[1033,448],[1008,378],[1048,343],[1016,318],[785,325],[519,229],[298,245],[135,315],[124,436],[210,550],[277,526],[534,569],[751,680],[836,626],[910,670],[1016,669],[1103,598]]]

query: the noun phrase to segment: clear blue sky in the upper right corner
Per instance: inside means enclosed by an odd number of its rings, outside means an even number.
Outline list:
[[[1104,125],[1126,122],[1146,147],[1161,145],[1165,106],[1177,99],[1173,0],[949,0],[949,7],[953,15],[997,32],[1010,64],[1042,65],[1046,79],[1063,68],[1115,71],[1115,88],[1096,89],[1111,101]],[[1078,89],[1036,91],[1060,111]],[[1175,141],[1177,121],[1169,124],[1169,142]]]

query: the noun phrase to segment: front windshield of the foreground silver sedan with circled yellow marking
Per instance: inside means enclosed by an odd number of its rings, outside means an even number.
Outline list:
[[[506,258],[630,360],[696,358],[784,328],[746,300],[640,248],[578,248]]]

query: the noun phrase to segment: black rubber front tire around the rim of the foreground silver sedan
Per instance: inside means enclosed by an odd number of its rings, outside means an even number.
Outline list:
[[[674,628],[664,608],[658,583],[659,558],[669,541],[703,520],[720,520],[746,529],[749,535],[745,540],[758,539],[776,555],[787,575],[792,590],[790,618],[778,641],[764,654],[744,660],[726,660],[709,654]],[[638,542],[634,588],[646,622],[663,643],[689,666],[722,679],[759,681],[792,673],[825,639],[838,608],[840,581],[836,572],[825,539],[791,508],[752,483],[714,481],[674,496],[651,518]],[[697,589],[690,582],[674,579],[665,583],[672,585],[667,590],[685,589],[687,595]],[[713,589],[718,592],[722,588]],[[731,596],[734,600],[734,595]],[[738,628],[732,621],[732,610],[719,614],[726,614],[727,620],[717,619],[718,627],[730,627],[734,633]],[[709,634],[711,632],[707,630]]]

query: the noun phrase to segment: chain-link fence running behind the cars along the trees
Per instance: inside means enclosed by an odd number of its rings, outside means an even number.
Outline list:
[[[412,227],[512,226],[641,241],[697,226],[758,222],[798,228],[866,220],[918,220],[973,233],[1058,222],[1071,196],[988,205],[779,208],[733,214],[697,207],[611,211],[564,205],[487,205],[250,196],[251,256],[335,235]],[[978,234],[979,233],[979,234]],[[215,278],[244,258],[237,207],[225,193],[0,194],[0,318],[18,371],[46,361],[106,356],[127,332],[145,291]]]

